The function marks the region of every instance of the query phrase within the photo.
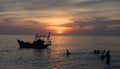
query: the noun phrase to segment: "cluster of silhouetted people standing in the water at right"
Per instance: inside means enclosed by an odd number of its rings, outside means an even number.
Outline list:
[[[106,64],[110,64],[110,50],[105,51],[103,50],[102,52],[100,50],[94,50],[94,54],[100,55],[100,59],[102,61],[106,60]]]

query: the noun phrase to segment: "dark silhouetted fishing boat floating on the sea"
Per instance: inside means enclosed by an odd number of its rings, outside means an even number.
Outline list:
[[[23,40],[17,39],[20,48],[36,48],[43,49],[51,46],[50,32],[48,36],[36,34],[35,39],[32,43],[24,42]]]

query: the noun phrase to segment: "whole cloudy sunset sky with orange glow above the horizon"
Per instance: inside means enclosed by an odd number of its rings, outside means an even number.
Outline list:
[[[0,0],[0,34],[120,35],[120,0]]]

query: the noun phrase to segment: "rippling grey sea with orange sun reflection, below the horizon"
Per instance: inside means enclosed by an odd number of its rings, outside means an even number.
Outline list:
[[[32,42],[34,36],[0,35],[0,69],[120,69],[120,36],[52,36],[47,49],[19,49],[17,38]],[[110,50],[110,64],[95,49]]]

